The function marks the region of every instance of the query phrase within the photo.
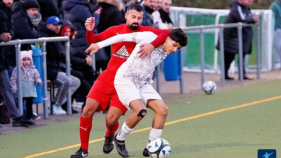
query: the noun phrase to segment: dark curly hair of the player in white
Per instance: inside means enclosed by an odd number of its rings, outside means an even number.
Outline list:
[[[174,28],[171,33],[169,34],[169,37],[179,43],[181,47],[185,47],[188,43],[188,37],[186,33],[181,28]]]

